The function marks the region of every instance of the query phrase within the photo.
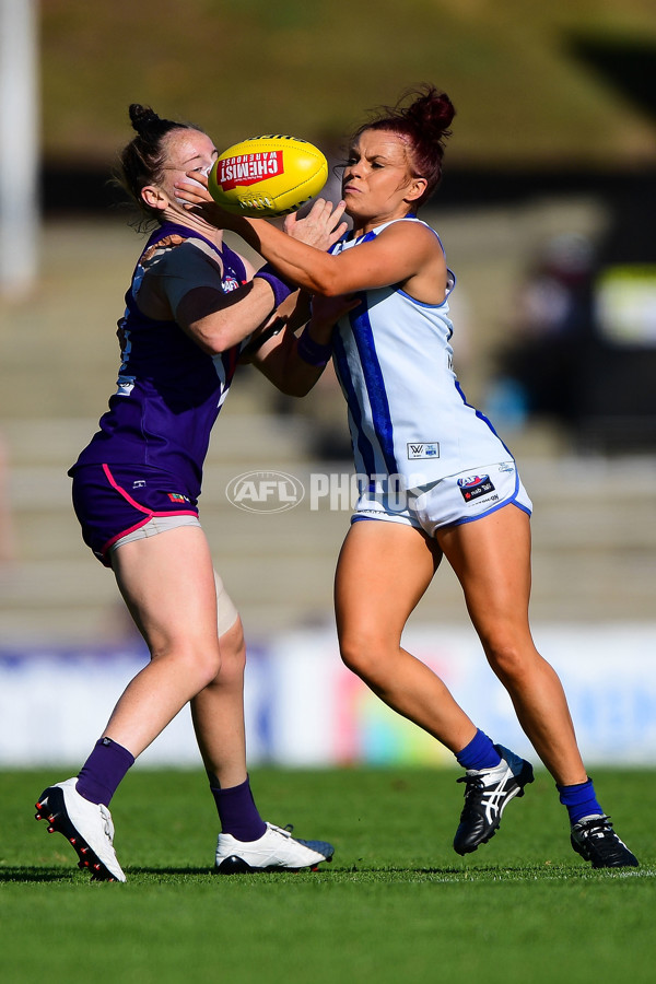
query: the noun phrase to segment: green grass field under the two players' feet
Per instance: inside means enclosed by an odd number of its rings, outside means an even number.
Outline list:
[[[57,776],[63,778],[61,776]],[[212,874],[213,805],[198,772],[134,770],[113,801],[128,882],[90,883],[32,805],[52,772],[1,775],[2,976],[8,982],[654,980],[656,774],[595,772],[639,869],[575,855],[542,772],[502,830],[460,858],[456,773],[255,770],[265,816],[326,837],[318,872]]]

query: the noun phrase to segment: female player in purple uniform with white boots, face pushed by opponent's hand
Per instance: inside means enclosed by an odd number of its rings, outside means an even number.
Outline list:
[[[290,286],[267,268],[254,276],[223,233],[176,195],[176,180],[209,172],[212,140],[137,104],[130,118],[137,136],[122,152],[121,180],[154,232],[119,321],[116,393],[70,475],[84,541],[113,570],[151,660],[79,775],[44,790],[37,819],[68,837],[95,878],[124,881],[109,801],[134,759],[190,703],[221,820],[218,869],[314,868],[332,846],[266,823],[253,799],[242,623],[214,572],[197,501],[210,430],[239,360],[298,396],[320,368],[297,351],[285,314]],[[340,218],[341,208],[329,214],[320,204],[292,221],[291,234],[326,249],[345,227]]]

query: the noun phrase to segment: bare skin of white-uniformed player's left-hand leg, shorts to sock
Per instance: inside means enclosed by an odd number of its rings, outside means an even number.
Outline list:
[[[476,725],[440,677],[401,646],[441,558],[438,546],[412,527],[353,523],[337,565],[337,629],[345,665],[397,713],[458,752]]]

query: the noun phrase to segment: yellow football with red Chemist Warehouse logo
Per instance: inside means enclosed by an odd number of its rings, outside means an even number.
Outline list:
[[[319,194],[327,179],[326,157],[306,140],[249,137],[221,154],[208,187],[226,211],[267,219],[295,212]]]

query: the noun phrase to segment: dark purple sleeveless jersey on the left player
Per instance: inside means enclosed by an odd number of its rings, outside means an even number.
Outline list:
[[[69,471],[84,465],[136,465],[155,468],[176,480],[192,499],[200,494],[210,431],[227,395],[242,345],[219,355],[203,352],[175,321],[147,318],[134,290],[144,269],[143,254],[172,234],[200,238],[223,263],[221,286],[233,291],[246,282],[246,269],[229,246],[219,249],[197,232],[165,223],[148,241],[126,294],[118,323],[121,366],[117,391],[92,437]],[[219,280],[218,280],[219,285]]]

